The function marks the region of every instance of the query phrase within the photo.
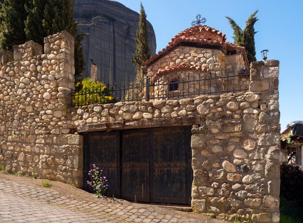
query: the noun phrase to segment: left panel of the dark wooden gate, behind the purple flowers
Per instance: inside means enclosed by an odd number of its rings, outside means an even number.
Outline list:
[[[92,132],[84,135],[84,189],[91,191],[87,187],[88,172],[92,165],[96,164],[103,170],[109,182],[106,192],[107,196],[119,197],[119,132]]]

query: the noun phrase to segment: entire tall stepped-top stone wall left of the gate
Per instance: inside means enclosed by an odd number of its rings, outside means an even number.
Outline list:
[[[81,187],[82,138],[69,135],[74,86],[74,37],[63,31],[2,50],[0,63],[0,164],[8,171]],[[66,134],[66,135],[64,135]]]

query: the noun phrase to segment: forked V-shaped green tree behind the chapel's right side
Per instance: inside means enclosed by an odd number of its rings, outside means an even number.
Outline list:
[[[256,16],[257,13],[258,10],[248,17],[243,30],[233,19],[226,16],[231,28],[234,31],[234,43],[238,46],[245,47],[249,63],[256,61],[255,34],[257,32],[255,32],[254,25],[258,21]]]

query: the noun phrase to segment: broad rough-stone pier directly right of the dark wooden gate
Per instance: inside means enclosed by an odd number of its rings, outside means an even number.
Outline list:
[[[192,208],[221,220],[279,222],[279,62],[251,64],[249,92],[223,94],[192,129]],[[212,111],[211,110],[211,111]]]

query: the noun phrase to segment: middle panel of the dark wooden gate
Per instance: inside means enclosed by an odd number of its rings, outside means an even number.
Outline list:
[[[149,129],[121,133],[121,198],[150,202]]]

